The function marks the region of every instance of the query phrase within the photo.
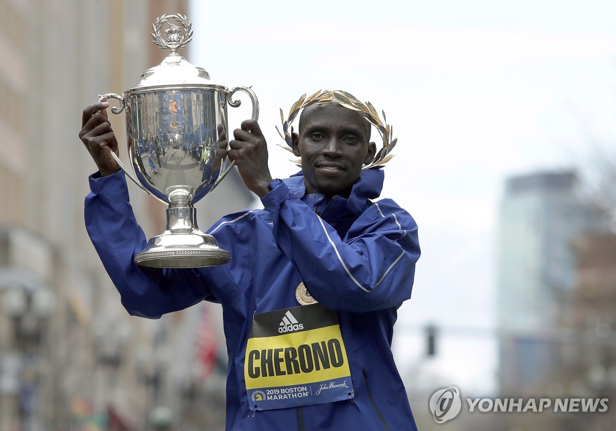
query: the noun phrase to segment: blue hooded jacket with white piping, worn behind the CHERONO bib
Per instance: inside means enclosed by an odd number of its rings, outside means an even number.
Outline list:
[[[416,430],[391,352],[397,308],[411,296],[419,258],[415,220],[378,198],[381,169],[365,169],[348,199],[307,194],[301,174],[270,184],[264,209],[230,214],[209,229],[232,255],[225,265],[143,268],[146,238],[129,204],[124,174],[90,179],[87,232],[131,315],[158,318],[201,300],[223,307],[229,367],[227,430]],[[295,289],[338,315],[354,400],[301,408],[249,408],[246,340],[254,313],[296,307]]]

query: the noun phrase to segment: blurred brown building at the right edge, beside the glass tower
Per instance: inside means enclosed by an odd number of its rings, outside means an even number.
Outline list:
[[[564,296],[561,344],[546,389],[565,397],[616,399],[616,234],[583,233],[573,241],[575,282]],[[616,429],[616,410],[562,417],[570,429]]]

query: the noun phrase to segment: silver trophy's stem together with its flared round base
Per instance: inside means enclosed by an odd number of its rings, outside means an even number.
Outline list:
[[[229,262],[229,252],[197,227],[192,191],[182,186],[170,188],[174,190],[168,193],[171,203],[167,209],[167,230],[148,241],[144,251],[135,257],[135,263],[153,268],[196,268]]]

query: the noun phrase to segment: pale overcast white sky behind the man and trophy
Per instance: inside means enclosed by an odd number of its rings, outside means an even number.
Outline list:
[[[297,170],[277,147],[278,108],[344,89],[386,112],[398,145],[382,196],[415,217],[423,251],[396,326],[400,371],[407,387],[492,391],[503,180],[614,155],[616,2],[193,1],[189,18],[188,59],[259,97],[275,177]],[[243,100],[230,129],[249,117]],[[432,360],[427,323],[443,328]]]

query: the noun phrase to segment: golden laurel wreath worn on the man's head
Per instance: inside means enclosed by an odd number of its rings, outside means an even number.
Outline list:
[[[381,111],[383,113],[383,121],[381,121],[381,118],[379,118],[379,115],[376,112],[375,107],[372,106],[372,103],[362,103],[355,98],[354,95],[339,90],[319,90],[309,97],[306,97],[306,94],[302,95],[297,102],[293,103],[293,106],[289,111],[289,116],[286,120],[282,109],[280,109],[282,133],[278,130],[278,127],[276,127],[276,130],[278,131],[280,137],[282,137],[282,139],[284,139],[286,144],[289,146],[289,148],[283,147],[285,150],[293,152],[293,150],[291,150],[291,148],[293,148],[293,143],[291,142],[291,132],[293,130],[291,128],[291,123],[293,123],[294,119],[298,116],[299,111],[309,107],[310,105],[325,105],[326,103],[339,103],[347,109],[359,111],[362,113],[363,118],[365,118],[365,120],[372,126],[375,126],[376,130],[379,132],[379,135],[381,135],[381,139],[383,139],[383,148],[376,153],[372,161],[364,166],[363,169],[383,165],[394,157],[394,154],[391,154],[391,150],[394,149],[395,143],[398,139],[391,139],[394,128],[387,124],[385,111]],[[291,132],[289,130],[290,128]]]

